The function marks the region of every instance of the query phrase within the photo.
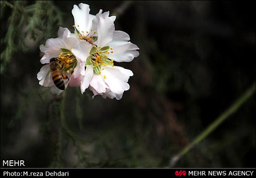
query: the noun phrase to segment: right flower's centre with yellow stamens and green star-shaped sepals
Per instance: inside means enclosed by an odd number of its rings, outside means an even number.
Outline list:
[[[98,75],[101,74],[101,70],[104,70],[104,66],[114,67],[114,61],[108,59],[107,56],[107,54],[109,54],[109,49],[112,50],[109,46],[104,46],[102,48],[101,46],[98,48],[93,46],[90,51],[90,56],[87,58],[86,65],[93,65],[94,72]],[[110,53],[113,53],[113,51]]]

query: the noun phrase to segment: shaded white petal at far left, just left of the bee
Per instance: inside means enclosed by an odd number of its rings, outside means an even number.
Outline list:
[[[48,87],[48,86],[54,85],[51,73],[49,72],[49,69],[50,69],[49,67],[50,67],[49,64],[44,65],[41,67],[40,72],[37,73],[37,79],[40,80],[39,84],[41,86]]]

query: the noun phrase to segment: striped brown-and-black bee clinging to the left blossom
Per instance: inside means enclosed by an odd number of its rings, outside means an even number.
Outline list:
[[[66,83],[64,79],[68,79],[67,75],[64,75],[64,64],[59,58],[50,59],[50,73],[54,81],[54,85],[60,90],[65,90]],[[68,79],[69,81],[69,79]]]

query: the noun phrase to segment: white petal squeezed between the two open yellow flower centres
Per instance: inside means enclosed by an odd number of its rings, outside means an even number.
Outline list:
[[[90,51],[92,49],[92,45],[84,40],[78,41],[78,43],[71,50],[75,55],[76,59],[80,62],[86,62],[86,59],[90,55]]]

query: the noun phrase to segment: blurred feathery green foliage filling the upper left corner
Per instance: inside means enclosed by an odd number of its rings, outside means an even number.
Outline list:
[[[26,37],[45,41],[62,24],[60,10],[52,1],[1,0],[1,69],[4,73],[13,54],[25,51]]]

